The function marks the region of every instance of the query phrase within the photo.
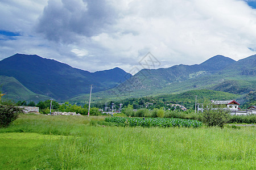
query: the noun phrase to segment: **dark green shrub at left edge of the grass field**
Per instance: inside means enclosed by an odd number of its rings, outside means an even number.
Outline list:
[[[0,126],[7,127],[18,118],[19,113],[22,113],[22,109],[15,107],[14,105],[1,105],[0,104]]]

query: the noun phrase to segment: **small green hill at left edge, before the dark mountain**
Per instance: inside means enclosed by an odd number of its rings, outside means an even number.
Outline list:
[[[11,99],[14,101],[35,101],[51,99],[44,95],[38,95],[24,87],[18,80],[13,77],[0,75],[0,90],[6,94],[2,99]]]

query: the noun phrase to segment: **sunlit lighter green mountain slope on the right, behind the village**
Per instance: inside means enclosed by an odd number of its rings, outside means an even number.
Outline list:
[[[256,90],[256,55],[239,61],[214,56],[199,65],[176,65],[167,69],[143,69],[112,90],[96,92],[94,100],[180,94],[209,89],[246,95]],[[83,101],[80,95],[71,101]]]

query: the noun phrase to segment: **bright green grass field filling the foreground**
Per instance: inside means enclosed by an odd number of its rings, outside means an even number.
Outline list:
[[[22,115],[0,129],[0,169],[255,169],[255,128],[90,126]],[[254,126],[253,126],[254,127]]]

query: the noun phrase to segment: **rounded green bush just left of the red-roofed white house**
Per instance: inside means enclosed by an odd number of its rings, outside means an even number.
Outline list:
[[[208,126],[219,126],[223,128],[224,124],[230,119],[230,111],[221,106],[213,104],[204,104],[203,122]]]

